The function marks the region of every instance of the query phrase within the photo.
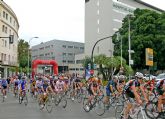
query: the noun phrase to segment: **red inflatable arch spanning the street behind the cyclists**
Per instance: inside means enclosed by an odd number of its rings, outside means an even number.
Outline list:
[[[58,64],[56,63],[55,60],[33,60],[32,62],[32,78],[34,78],[34,75],[36,74],[37,71],[37,66],[38,65],[53,65],[53,72],[54,74],[58,74]]]

